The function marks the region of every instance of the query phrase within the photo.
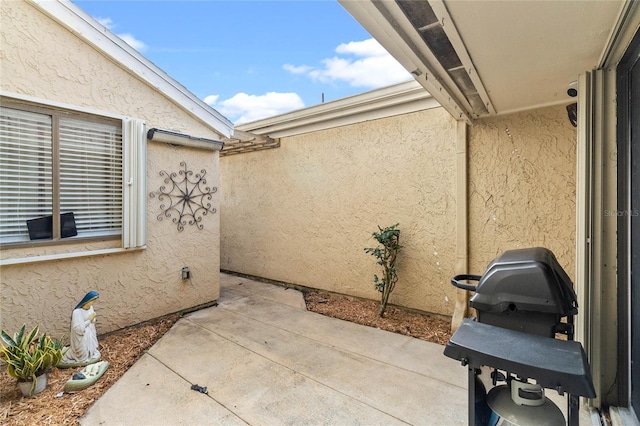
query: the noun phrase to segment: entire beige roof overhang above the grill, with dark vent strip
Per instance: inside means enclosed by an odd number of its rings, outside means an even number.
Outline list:
[[[456,119],[571,103],[638,2],[339,0]]]

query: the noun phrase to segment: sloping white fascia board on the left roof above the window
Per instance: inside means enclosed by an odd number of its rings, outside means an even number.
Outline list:
[[[27,0],[77,37],[93,46],[116,64],[129,70],[149,86],[172,99],[187,113],[223,136],[233,134],[233,123],[197,98],[137,50],[125,43],[80,8],[65,0]]]

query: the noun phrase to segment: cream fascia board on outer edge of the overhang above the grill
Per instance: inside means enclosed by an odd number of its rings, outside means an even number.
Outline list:
[[[433,58],[431,52],[416,51],[416,46],[423,44],[420,40],[405,40],[406,37],[417,37],[415,31],[395,2],[380,2],[391,15],[388,19],[378,10],[371,0],[338,0],[338,3],[362,25],[400,64],[414,74],[416,80],[433,95],[434,98],[456,120],[471,123],[473,108],[468,104],[457,86]],[[393,21],[393,22],[390,22]],[[414,45],[414,48],[410,46]]]

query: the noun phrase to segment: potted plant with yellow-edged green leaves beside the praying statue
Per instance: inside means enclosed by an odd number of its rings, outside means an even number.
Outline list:
[[[39,326],[26,332],[26,325],[13,337],[2,331],[0,359],[7,363],[7,372],[18,379],[24,396],[42,392],[47,385],[46,373],[62,359],[63,342],[46,333],[38,335]]]

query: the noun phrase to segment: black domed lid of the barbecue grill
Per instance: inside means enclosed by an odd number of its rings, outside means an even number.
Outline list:
[[[478,311],[534,311],[576,315],[573,283],[544,247],[508,250],[480,277],[469,304]]]

